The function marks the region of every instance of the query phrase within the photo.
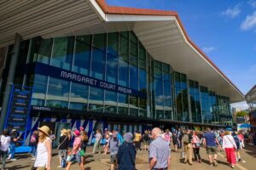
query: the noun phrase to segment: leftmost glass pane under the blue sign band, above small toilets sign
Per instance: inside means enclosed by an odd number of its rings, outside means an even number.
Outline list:
[[[33,82],[32,104],[44,106],[48,77],[36,74]]]

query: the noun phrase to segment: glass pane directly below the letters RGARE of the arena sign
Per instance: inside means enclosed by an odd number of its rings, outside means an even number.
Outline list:
[[[88,86],[72,82],[69,109],[87,111]]]

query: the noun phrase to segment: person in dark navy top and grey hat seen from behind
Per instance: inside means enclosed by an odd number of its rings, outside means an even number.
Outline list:
[[[132,144],[132,133],[124,134],[124,144],[119,146],[117,155],[118,170],[135,170],[136,149]]]

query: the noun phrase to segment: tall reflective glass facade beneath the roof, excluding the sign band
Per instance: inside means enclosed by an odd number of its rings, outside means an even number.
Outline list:
[[[6,71],[12,48],[9,46]],[[17,68],[43,63],[137,92],[123,94],[35,71],[24,76],[18,69],[15,83],[33,87],[32,105],[179,122],[231,123],[229,98],[155,60],[132,31],[35,37],[21,42],[18,63]],[[3,88],[1,91],[0,102]]]

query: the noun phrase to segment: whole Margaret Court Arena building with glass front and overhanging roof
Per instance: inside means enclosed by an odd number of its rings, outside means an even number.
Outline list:
[[[48,125],[134,132],[232,125],[244,95],[189,39],[177,12],[104,0],[0,6],[1,120],[28,143]]]

